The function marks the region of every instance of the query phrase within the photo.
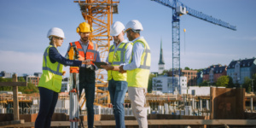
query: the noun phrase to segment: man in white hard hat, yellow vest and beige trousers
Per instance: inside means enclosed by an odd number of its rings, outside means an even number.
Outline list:
[[[128,95],[131,100],[132,113],[140,128],[147,128],[147,110],[144,108],[150,70],[150,48],[140,36],[143,26],[138,20],[131,20],[125,26],[127,38],[133,42],[131,61],[119,67],[120,73],[127,72]]]

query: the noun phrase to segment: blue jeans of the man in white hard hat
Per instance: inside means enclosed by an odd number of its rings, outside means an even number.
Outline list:
[[[125,128],[125,93],[128,90],[126,81],[108,81],[108,91],[113,105],[113,114],[116,128]]]

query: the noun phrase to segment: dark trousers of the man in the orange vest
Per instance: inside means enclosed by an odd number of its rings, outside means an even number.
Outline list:
[[[94,123],[94,110],[93,102],[95,98],[95,83],[79,83],[79,96],[81,96],[82,90],[85,92],[86,108],[87,108],[87,123],[88,128],[93,128]]]

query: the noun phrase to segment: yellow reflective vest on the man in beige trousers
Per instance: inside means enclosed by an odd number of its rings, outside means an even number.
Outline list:
[[[127,82],[129,87],[148,88],[148,76],[150,72],[151,54],[148,43],[144,38],[137,39],[134,44],[141,43],[144,46],[140,67],[133,70],[127,70]],[[133,60],[133,51],[131,53],[131,61]],[[129,63],[131,63],[131,61]]]

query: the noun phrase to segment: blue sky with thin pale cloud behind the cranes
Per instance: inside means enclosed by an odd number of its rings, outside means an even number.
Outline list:
[[[212,64],[252,58],[256,48],[255,0],[180,0],[191,9],[212,15],[236,26],[237,31],[216,26],[189,15],[181,17],[181,29],[187,30],[186,52],[181,31],[181,67],[203,68]],[[8,73],[42,72],[44,49],[51,27],[60,27],[67,39],[61,48],[65,55],[69,42],[79,40],[76,27],[84,21],[78,3],[73,0],[0,1],[0,71]],[[124,25],[139,20],[152,54],[151,71],[158,71],[160,39],[163,42],[166,69],[172,67],[172,9],[150,0],[121,0],[113,21]],[[113,42],[111,42],[113,44]],[[68,67],[65,67],[68,71]]]

